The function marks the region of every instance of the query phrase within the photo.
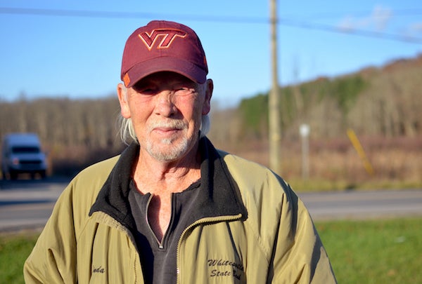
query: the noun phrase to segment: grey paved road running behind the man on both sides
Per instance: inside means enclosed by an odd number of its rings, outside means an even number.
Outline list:
[[[0,232],[44,226],[68,180],[0,180]],[[299,194],[314,220],[422,216],[422,189]]]

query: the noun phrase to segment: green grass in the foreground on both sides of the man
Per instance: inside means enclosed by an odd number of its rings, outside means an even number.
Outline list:
[[[422,283],[422,218],[316,222],[338,283]],[[37,234],[0,235],[1,283],[24,283]]]

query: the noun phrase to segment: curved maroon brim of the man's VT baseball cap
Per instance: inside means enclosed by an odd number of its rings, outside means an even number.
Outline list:
[[[139,80],[157,72],[176,72],[200,84],[207,80],[207,73],[191,62],[179,58],[162,57],[138,63],[129,69],[127,72],[129,82],[126,82],[126,87],[131,88]]]

